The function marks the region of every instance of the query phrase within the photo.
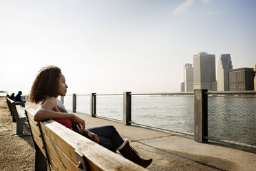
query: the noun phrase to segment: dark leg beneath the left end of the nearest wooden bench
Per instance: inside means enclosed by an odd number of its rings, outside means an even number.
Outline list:
[[[37,145],[34,148],[34,171],[47,171],[47,161],[45,160],[45,156]]]

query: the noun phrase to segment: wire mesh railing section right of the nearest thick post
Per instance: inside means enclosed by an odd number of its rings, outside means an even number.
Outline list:
[[[206,92],[207,139],[251,148],[256,145],[256,93]],[[255,147],[254,147],[255,148]]]

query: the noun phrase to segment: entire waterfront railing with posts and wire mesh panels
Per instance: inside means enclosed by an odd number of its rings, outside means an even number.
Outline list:
[[[72,94],[67,110],[256,149],[256,91]]]

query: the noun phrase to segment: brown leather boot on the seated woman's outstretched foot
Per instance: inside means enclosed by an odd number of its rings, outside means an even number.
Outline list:
[[[138,165],[141,165],[144,168],[147,168],[152,163],[152,159],[142,159],[140,158],[140,155],[134,148],[131,147],[129,144],[129,141],[124,142],[125,145],[121,145],[122,148],[119,150],[119,152],[122,154],[123,157],[126,159],[129,159],[130,161],[134,161],[134,163],[137,163]]]

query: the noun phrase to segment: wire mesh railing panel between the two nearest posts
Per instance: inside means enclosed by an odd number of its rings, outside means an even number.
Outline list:
[[[131,94],[131,123],[193,136],[193,92]]]

